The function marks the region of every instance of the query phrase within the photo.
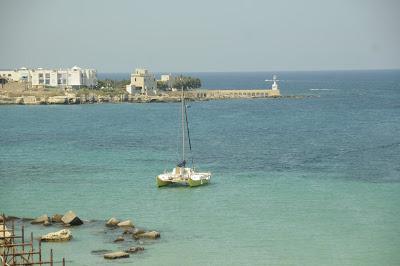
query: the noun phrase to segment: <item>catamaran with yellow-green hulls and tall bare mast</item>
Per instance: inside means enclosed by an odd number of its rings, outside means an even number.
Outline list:
[[[186,167],[185,157],[185,135],[187,134],[189,150],[192,151],[192,144],[190,142],[189,123],[187,115],[187,106],[185,104],[185,95],[182,88],[181,97],[181,116],[182,116],[182,161],[176,165],[172,172],[164,172],[157,176],[157,186],[167,186],[170,184],[188,185],[190,187],[197,187],[208,184],[211,179],[210,172],[196,172],[192,160],[192,166]]]

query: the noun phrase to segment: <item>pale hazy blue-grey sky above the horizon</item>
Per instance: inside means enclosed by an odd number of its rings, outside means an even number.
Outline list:
[[[396,0],[0,0],[0,68],[400,68]]]

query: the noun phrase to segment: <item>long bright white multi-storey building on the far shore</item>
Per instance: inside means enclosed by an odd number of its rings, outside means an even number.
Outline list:
[[[97,84],[97,72],[94,69],[82,69],[74,66],[68,69],[32,69],[33,87],[80,88],[94,87]]]

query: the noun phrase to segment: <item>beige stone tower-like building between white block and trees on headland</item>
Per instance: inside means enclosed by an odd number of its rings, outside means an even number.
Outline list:
[[[131,84],[126,86],[126,91],[130,94],[156,95],[156,78],[147,69],[137,68],[131,74]]]

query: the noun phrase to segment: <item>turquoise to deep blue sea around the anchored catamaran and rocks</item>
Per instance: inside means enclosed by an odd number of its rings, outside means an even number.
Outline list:
[[[0,106],[0,211],[76,212],[70,242],[43,243],[66,265],[400,265],[400,70],[183,74],[209,89],[277,74],[302,97],[188,103],[190,158],[212,172],[197,188],[156,186],[180,160],[179,103]],[[111,217],[161,238],[113,243]],[[145,250],[99,251],[130,246]]]

